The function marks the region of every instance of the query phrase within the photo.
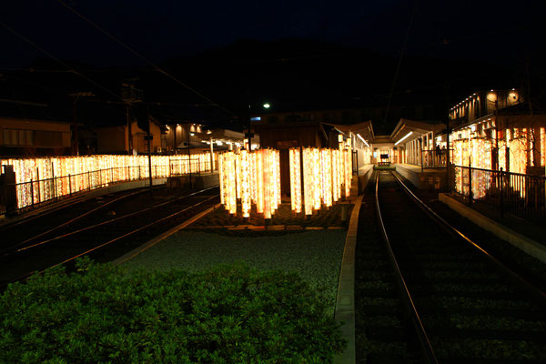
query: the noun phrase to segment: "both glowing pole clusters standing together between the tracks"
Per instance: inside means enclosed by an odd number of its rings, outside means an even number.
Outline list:
[[[280,204],[278,150],[223,153],[218,155],[218,170],[221,203],[230,214],[237,214],[238,200],[243,217],[250,216],[252,203],[265,218],[275,214]],[[311,215],[322,206],[331,207],[342,196],[350,195],[350,139],[339,149],[289,149],[289,171],[291,208],[295,213],[304,209],[306,215]]]

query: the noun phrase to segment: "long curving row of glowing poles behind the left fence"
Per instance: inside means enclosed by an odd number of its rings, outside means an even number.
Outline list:
[[[210,154],[193,155],[191,160],[192,172],[210,171]],[[188,173],[188,164],[187,156],[152,156],[152,177],[168,177],[171,168],[180,174]],[[149,177],[147,156],[7,158],[1,159],[0,165],[14,167],[18,208]]]

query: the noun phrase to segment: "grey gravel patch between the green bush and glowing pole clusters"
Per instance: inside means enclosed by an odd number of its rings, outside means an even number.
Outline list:
[[[129,269],[184,268],[195,272],[244,261],[251,268],[297,272],[325,288],[333,315],[346,230],[319,230],[248,238],[182,230],[125,263]]]

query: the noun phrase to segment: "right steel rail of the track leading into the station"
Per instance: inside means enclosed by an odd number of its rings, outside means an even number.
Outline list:
[[[471,247],[475,248],[476,251],[480,252],[480,255],[490,263],[490,265],[497,269],[504,277],[509,278],[511,282],[517,287],[521,288],[525,293],[527,293],[531,298],[535,298],[538,301],[540,301],[543,305],[546,307],[546,294],[541,291],[540,288],[536,288],[531,283],[529,283],[524,278],[521,278],[520,275],[518,275],[516,272],[511,270],[511,268],[508,268],[505,266],[499,259],[494,258],[490,255],[490,253],[485,250],[484,248],[481,248],[478,244],[476,244],[474,241],[472,241],[469,237],[464,235],[462,232],[460,232],[459,229],[456,227],[451,226],[451,224],[446,221],[443,217],[440,217],[436,212],[434,212],[430,207],[427,206],[423,201],[420,200],[419,197],[417,197],[411,190],[410,187],[407,187],[404,182],[401,181],[401,179],[396,176],[394,173],[390,172],[392,176],[396,178],[396,180],[399,182],[399,185],[403,187],[402,189],[406,194],[408,194],[413,201],[415,201],[420,207],[422,207],[425,212],[433,218],[433,220],[437,221],[440,226],[446,227],[450,232],[452,232],[455,236],[461,238],[462,240],[466,241],[470,244]]]

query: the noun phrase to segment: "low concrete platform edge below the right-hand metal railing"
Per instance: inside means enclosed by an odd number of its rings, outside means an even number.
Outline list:
[[[509,242],[516,248],[520,248],[531,257],[541,260],[546,263],[546,247],[540,243],[527,238],[520,233],[512,230],[510,227],[504,227],[498,222],[491,220],[489,217],[481,215],[472,208],[461,204],[455,198],[448,196],[445,193],[438,195],[440,202],[448,205],[452,210],[458,212],[461,216],[469,218],[474,224],[482,227],[497,237]]]

